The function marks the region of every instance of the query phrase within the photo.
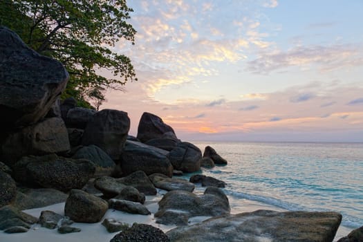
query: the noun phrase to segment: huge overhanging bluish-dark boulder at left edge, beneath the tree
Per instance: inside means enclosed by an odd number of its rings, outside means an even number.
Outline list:
[[[38,122],[65,89],[69,75],[55,59],[28,48],[0,26],[0,133]]]

